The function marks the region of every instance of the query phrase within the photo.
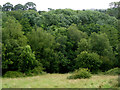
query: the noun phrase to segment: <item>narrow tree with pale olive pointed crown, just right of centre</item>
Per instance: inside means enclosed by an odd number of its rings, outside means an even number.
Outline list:
[[[68,56],[68,59],[70,59],[70,66],[72,67],[71,70],[74,70],[75,65],[75,57],[76,57],[76,49],[78,48],[78,42],[83,39],[87,38],[88,35],[85,32],[82,32],[78,30],[77,26],[75,24],[72,24],[70,27],[68,27],[68,42],[66,43],[66,53]]]

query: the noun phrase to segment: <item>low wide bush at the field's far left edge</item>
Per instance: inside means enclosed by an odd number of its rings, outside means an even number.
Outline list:
[[[8,78],[17,78],[17,77],[24,77],[24,74],[18,71],[7,71],[3,77],[8,77]]]

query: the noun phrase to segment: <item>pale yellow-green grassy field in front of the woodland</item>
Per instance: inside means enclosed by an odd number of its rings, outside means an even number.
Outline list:
[[[118,76],[93,75],[90,79],[67,79],[70,74],[46,74],[23,78],[3,78],[3,88],[113,88]]]

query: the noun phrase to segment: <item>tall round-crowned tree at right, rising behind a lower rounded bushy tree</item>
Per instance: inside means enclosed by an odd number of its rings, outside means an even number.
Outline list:
[[[117,63],[115,54],[113,53],[113,48],[110,45],[108,36],[105,33],[92,33],[89,38],[89,43],[90,50],[101,56],[100,59],[103,61],[101,66],[102,70],[108,70]]]

